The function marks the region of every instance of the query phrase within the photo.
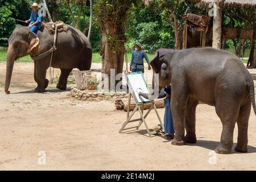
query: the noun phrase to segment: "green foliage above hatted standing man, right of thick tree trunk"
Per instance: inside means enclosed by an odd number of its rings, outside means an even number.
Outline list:
[[[156,11],[158,9],[152,6],[134,7],[131,10],[126,31],[127,51],[133,51],[135,42],[142,43],[143,49],[150,53],[158,48],[174,48],[174,31]]]

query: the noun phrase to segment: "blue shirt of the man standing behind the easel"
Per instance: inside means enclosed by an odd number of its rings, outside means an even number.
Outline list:
[[[133,69],[143,69],[143,59],[146,59],[147,64],[150,64],[150,61],[148,60],[147,54],[145,51],[133,51],[133,54],[131,55],[131,63]]]

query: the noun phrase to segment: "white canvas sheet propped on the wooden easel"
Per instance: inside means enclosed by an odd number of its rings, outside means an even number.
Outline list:
[[[127,81],[129,82],[130,89],[134,93],[138,103],[151,101],[139,96],[139,92],[150,94],[146,81],[141,73],[127,75]]]

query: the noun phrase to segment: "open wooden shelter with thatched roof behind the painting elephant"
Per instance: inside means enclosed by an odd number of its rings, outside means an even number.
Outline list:
[[[203,16],[196,17],[193,15],[192,17],[185,16],[184,18],[187,22],[183,27],[183,48],[189,48],[187,46],[187,34],[188,34],[188,27],[194,28],[196,32],[201,32],[200,36],[200,47],[209,46],[205,45],[205,36],[212,40],[212,47],[221,49],[225,46],[225,41],[227,39],[232,39],[234,44],[236,44],[236,39],[241,39],[242,44],[246,42],[246,40],[250,40],[251,42],[251,50],[250,50],[250,57],[247,63],[247,67],[256,68],[256,47],[255,47],[255,39],[256,39],[256,27],[254,25],[246,28],[234,28],[234,27],[224,27],[222,28],[222,7],[226,9],[229,7],[240,7],[241,9],[247,8],[251,11],[256,11],[256,0],[195,0],[197,3],[205,3],[208,7],[212,7],[211,10],[213,12],[213,22],[211,23],[213,27],[208,27],[207,24],[202,24],[201,21],[205,18]],[[211,4],[211,6],[209,6]],[[252,12],[252,13],[254,13]],[[245,18],[246,19],[246,18]],[[248,19],[249,20],[249,19]],[[192,23],[192,24],[191,24]],[[196,28],[196,29],[195,29]],[[191,38],[190,38],[191,39]],[[209,41],[207,42],[209,44]],[[199,45],[198,45],[199,46]],[[237,45],[234,45],[235,47]],[[240,45],[241,46],[241,45]],[[238,49],[240,48],[238,47]],[[236,50],[237,53],[238,50]],[[239,52],[239,51],[238,51]],[[249,65],[250,64],[250,65]]]

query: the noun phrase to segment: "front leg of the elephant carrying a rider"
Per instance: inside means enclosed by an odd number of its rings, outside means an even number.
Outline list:
[[[48,86],[48,80],[46,79],[46,64],[38,61],[35,64],[35,70],[36,82],[38,83],[38,87],[35,88],[34,92],[46,92],[46,88]]]

